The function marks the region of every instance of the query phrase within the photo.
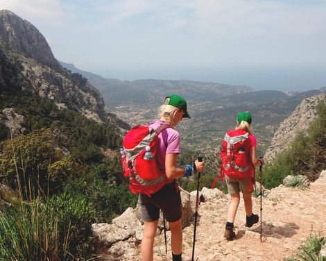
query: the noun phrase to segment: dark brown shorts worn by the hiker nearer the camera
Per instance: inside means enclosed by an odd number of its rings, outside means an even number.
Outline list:
[[[141,217],[144,221],[155,221],[160,218],[160,210],[168,222],[175,222],[182,217],[182,205],[178,183],[175,181],[164,185],[161,190],[147,196],[139,193]]]

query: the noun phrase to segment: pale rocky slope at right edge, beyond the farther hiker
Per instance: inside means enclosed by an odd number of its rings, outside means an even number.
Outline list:
[[[311,96],[302,100],[292,114],[286,118],[276,130],[271,146],[267,149],[264,159],[270,162],[277,153],[286,149],[298,132],[304,132],[311,121],[316,118],[316,106],[320,101],[325,101],[326,94]]]

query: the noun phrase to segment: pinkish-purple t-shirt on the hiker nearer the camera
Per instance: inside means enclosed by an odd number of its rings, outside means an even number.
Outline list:
[[[149,124],[152,128],[156,129],[165,121],[157,119]],[[158,136],[158,151],[156,152],[157,165],[160,169],[165,169],[165,155],[166,153],[180,153],[180,134],[173,128],[166,128]]]

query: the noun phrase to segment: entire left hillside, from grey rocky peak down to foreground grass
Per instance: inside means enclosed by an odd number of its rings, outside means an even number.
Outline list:
[[[135,205],[116,115],[31,23],[0,10],[0,260],[91,260],[91,225]]]

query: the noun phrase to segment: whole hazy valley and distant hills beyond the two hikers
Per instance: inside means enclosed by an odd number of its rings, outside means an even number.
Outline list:
[[[234,128],[235,115],[242,110],[252,113],[252,128],[258,137],[259,155],[264,155],[277,126],[291,115],[302,99],[323,92],[309,90],[289,96],[280,91],[252,92],[249,87],[218,83],[153,79],[119,81],[81,71],[72,64],[61,64],[87,77],[103,94],[107,110],[130,126],[155,119],[157,108],[166,95],[184,95],[189,103],[191,119],[182,121],[177,127],[182,137],[182,148],[207,155],[212,155],[225,132]]]

